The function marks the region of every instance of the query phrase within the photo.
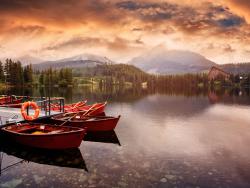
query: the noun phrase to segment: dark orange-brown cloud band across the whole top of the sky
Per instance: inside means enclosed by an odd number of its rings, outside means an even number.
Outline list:
[[[2,22],[16,20],[13,23],[15,27],[26,27],[28,22],[28,25],[58,27],[62,30],[65,27],[74,30],[92,26],[112,30],[136,23],[138,27],[129,31],[145,31],[151,27],[168,33],[161,25],[168,24],[181,32],[197,33],[200,30],[228,29],[245,24],[244,18],[230,12],[226,6],[211,2],[196,7],[148,0],[0,0],[0,4]]]

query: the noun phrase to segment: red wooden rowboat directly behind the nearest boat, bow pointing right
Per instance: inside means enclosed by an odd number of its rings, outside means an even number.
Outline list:
[[[118,117],[111,116],[81,116],[79,113],[59,114],[51,117],[54,124],[71,127],[86,128],[87,131],[112,131],[115,129],[120,115]]]

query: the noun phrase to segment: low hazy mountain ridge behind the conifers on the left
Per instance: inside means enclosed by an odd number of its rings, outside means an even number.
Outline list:
[[[64,58],[56,61],[45,61],[33,66],[36,70],[44,70],[48,68],[60,69],[60,68],[83,68],[83,67],[95,67],[96,65],[112,64],[113,62],[102,56],[93,54],[80,54],[69,58]]]

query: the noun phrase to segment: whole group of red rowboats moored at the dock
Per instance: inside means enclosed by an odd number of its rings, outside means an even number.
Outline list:
[[[17,108],[18,105],[20,104],[15,103],[13,106]],[[106,105],[107,102],[87,105],[87,101],[67,104],[64,106],[64,113],[40,117],[32,121],[9,123],[1,127],[0,133],[8,140],[35,148],[77,148],[88,132],[115,129],[120,115],[107,116]],[[53,104],[50,108],[53,111],[59,111],[61,107]]]

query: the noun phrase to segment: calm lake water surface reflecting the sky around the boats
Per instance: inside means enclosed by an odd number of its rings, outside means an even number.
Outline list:
[[[115,132],[48,152],[2,141],[0,187],[250,187],[249,91],[2,92],[108,100]]]

